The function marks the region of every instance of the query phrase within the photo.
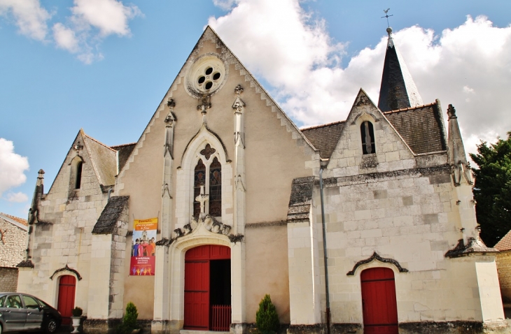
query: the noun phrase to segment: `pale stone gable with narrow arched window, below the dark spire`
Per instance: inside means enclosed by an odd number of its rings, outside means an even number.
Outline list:
[[[374,147],[363,154],[363,142],[370,140],[361,130],[364,122],[370,122],[374,131]],[[363,140],[363,134],[367,136]],[[360,89],[351,107],[328,169],[339,176],[376,173],[388,170],[412,168],[414,154],[388,119],[376,107],[367,94]]]

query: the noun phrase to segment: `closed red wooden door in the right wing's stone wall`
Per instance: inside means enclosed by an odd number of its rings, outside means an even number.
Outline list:
[[[394,272],[371,268],[360,275],[365,334],[398,333]]]

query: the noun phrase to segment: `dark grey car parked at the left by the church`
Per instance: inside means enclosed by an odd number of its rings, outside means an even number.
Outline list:
[[[27,293],[0,293],[0,334],[42,329],[55,333],[62,324],[59,311]]]

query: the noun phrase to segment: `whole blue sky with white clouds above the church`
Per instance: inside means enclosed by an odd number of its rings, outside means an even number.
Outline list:
[[[298,126],[377,102],[386,8],[424,102],[454,104],[472,152],[505,136],[511,1],[0,0],[0,212],[27,216],[80,128],[137,141],[207,24]]]

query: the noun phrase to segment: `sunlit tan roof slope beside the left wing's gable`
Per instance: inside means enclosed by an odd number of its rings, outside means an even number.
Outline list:
[[[99,184],[104,186],[116,184],[117,151],[85,133],[83,133],[83,141],[92,160]]]

